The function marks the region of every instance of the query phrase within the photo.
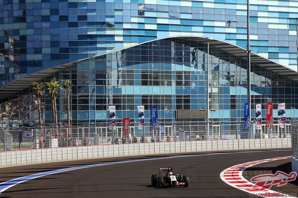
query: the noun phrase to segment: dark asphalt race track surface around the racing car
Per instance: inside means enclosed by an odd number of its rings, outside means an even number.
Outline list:
[[[46,175],[12,186],[1,193],[0,197],[249,197],[248,193],[224,183],[219,177],[220,172],[236,164],[292,154],[291,150],[245,153],[241,151],[248,150],[98,158],[0,168],[0,183],[2,183],[22,176],[62,168],[190,155],[189,157],[109,164]],[[214,153],[216,154],[194,156]],[[189,176],[190,186],[188,188],[158,189],[151,186],[151,175],[157,174],[159,167],[169,166],[173,167],[174,173]]]

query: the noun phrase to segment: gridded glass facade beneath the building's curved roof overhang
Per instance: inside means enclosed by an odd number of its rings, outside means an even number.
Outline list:
[[[209,54],[209,109],[215,109],[210,120],[243,121],[247,100],[246,60],[215,47],[210,47]],[[117,123],[122,123],[121,118],[138,122],[138,105],[145,106],[145,122],[150,122],[149,107],[157,106],[160,122],[204,123],[205,119],[176,119],[176,110],[206,108],[206,61],[204,43],[161,39],[78,62],[42,82],[53,77],[60,83],[72,81],[73,125],[108,123],[109,105],[116,106]],[[251,72],[252,109],[261,103],[265,117],[267,102],[273,102],[274,109],[278,103],[285,102],[287,116],[298,117],[297,82],[255,64],[251,65]],[[51,123],[51,99],[43,92],[43,122]],[[2,120],[3,124],[18,126],[38,122],[36,99],[30,88],[13,94],[1,107],[2,115],[8,117]],[[63,89],[57,99],[57,109],[58,121],[65,123],[67,105]],[[277,110],[274,119],[278,120]]]

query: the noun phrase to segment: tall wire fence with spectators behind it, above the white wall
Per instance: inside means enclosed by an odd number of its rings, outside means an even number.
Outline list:
[[[297,125],[297,124],[296,124]],[[208,128],[209,126],[209,128]],[[64,127],[21,127],[11,130],[6,128],[0,131],[0,151],[20,150],[49,147],[88,146],[121,143],[147,143],[166,141],[200,141],[225,139],[252,139],[252,138],[282,138],[291,137],[291,132],[297,126],[273,124],[272,128],[262,125],[256,130],[255,124],[235,122],[235,124],[216,125],[203,123],[201,125],[165,125],[153,130],[151,126],[87,126],[67,128]],[[31,131],[31,132],[30,132]],[[293,139],[293,136],[292,136]],[[297,138],[296,138],[297,141]]]

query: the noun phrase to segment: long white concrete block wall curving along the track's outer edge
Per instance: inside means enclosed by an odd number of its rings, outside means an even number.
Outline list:
[[[204,140],[58,147],[0,152],[0,167],[40,162],[216,150],[290,148],[291,138]]]

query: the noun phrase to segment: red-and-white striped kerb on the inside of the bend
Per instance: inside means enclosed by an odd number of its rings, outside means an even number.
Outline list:
[[[254,166],[256,164],[261,164],[267,161],[281,160],[286,158],[291,158],[291,156],[276,157],[271,159],[257,160],[257,161],[245,162],[243,164],[238,164],[222,171],[220,173],[220,178],[230,186],[233,186],[234,188],[243,190],[247,193],[258,194],[260,195],[259,197],[286,197],[284,193],[279,193],[270,189],[263,190],[263,191],[257,191],[257,189],[251,189],[251,187],[254,186],[254,184],[252,182],[249,182],[247,179],[245,179],[242,176],[242,172],[248,167]]]

